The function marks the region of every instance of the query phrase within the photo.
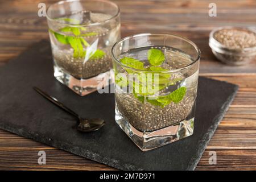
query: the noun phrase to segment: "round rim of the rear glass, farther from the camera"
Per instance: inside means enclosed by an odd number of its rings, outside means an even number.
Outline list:
[[[92,2],[104,2],[104,3],[109,3],[110,5],[115,6],[115,8],[117,9],[117,13],[116,13],[115,15],[111,16],[109,19],[106,19],[106,20],[104,20],[104,21],[102,21],[102,22],[89,23],[89,24],[88,24],[88,23],[86,23],[86,24],[85,24],[85,23],[84,23],[84,24],[63,23],[63,22],[60,22],[60,21],[58,21],[58,20],[56,20],[56,19],[54,19],[54,18],[49,17],[48,11],[49,11],[49,9],[50,9],[52,6],[54,6],[54,5],[61,5],[61,4],[65,3],[65,2],[76,2],[76,1],[81,1],[81,2],[92,1]],[[62,0],[62,1],[58,1],[58,2],[56,2],[56,3],[51,4],[51,5],[47,8],[47,10],[46,10],[46,18],[47,18],[48,20],[55,21],[55,22],[58,22],[58,23],[60,23],[60,24],[65,24],[65,25],[70,26],[70,27],[90,27],[90,26],[98,26],[98,25],[100,25],[100,24],[108,23],[110,20],[112,20],[112,19],[114,19],[114,18],[117,18],[119,15],[120,15],[120,8],[119,8],[119,6],[118,6],[116,3],[112,2],[112,1],[108,1],[108,0]]]

